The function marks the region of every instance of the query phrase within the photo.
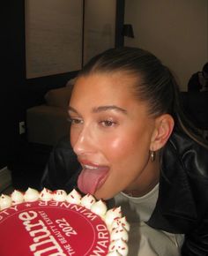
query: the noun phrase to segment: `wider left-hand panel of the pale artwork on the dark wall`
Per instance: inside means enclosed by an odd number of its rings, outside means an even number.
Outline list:
[[[83,0],[26,0],[26,79],[82,67]]]

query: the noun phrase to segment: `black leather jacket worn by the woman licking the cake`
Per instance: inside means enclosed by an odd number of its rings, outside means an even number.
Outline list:
[[[70,192],[80,169],[63,139],[50,155],[41,187]],[[184,134],[174,132],[163,149],[159,198],[147,224],[185,234],[182,256],[208,255],[208,151]]]

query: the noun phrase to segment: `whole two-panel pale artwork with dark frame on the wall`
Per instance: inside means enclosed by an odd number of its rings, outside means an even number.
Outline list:
[[[123,0],[25,0],[26,79],[78,72],[123,44]]]

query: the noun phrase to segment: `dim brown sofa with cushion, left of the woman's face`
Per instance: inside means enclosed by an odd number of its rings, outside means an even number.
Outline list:
[[[65,87],[49,90],[45,103],[26,109],[26,139],[29,143],[54,146],[57,141],[70,134],[67,121],[68,103],[75,79]]]

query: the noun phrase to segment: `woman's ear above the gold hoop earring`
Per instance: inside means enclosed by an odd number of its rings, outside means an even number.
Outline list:
[[[155,119],[155,128],[152,132],[150,150],[157,151],[164,147],[174,129],[174,118],[168,114]]]

